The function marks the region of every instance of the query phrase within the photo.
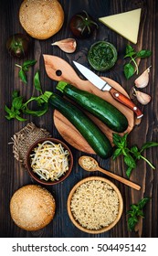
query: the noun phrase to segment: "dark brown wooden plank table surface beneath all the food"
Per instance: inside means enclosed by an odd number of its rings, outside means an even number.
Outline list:
[[[34,184],[30,176],[28,176],[26,170],[16,161],[12,153],[11,137],[26,126],[27,123],[33,122],[38,127],[47,129],[53,137],[62,139],[59,135],[54,123],[53,112],[49,110],[46,115],[35,118],[28,118],[27,122],[20,123],[16,120],[8,121],[5,119],[5,104],[9,105],[11,102],[12,91],[18,90],[21,95],[26,98],[30,97],[33,93],[32,79],[36,69],[40,70],[40,77],[42,88],[47,91],[55,91],[56,81],[50,80],[47,77],[46,70],[44,68],[44,61],[42,54],[56,55],[62,59],[68,61],[72,65],[72,60],[81,59],[82,63],[88,66],[87,52],[90,45],[97,40],[108,40],[116,46],[118,49],[118,61],[113,69],[110,71],[101,73],[96,72],[99,75],[104,75],[119,82],[122,87],[130,93],[133,81],[136,79],[136,75],[130,80],[125,80],[123,75],[123,64],[125,60],[123,55],[125,47],[129,43],[125,38],[121,37],[117,33],[113,32],[110,28],[99,24],[98,33],[94,37],[85,40],[77,40],[78,48],[73,54],[66,54],[59,48],[52,48],[50,44],[61,38],[72,37],[72,34],[68,28],[68,21],[70,17],[81,10],[86,10],[91,16],[98,20],[100,16],[109,16],[125,11],[130,11],[135,8],[142,8],[142,19],[138,37],[138,43],[132,45],[135,49],[141,48],[150,49],[153,51],[151,58],[142,59],[139,62],[140,74],[143,70],[152,65],[150,73],[150,82],[148,87],[143,89],[143,92],[149,93],[152,96],[152,101],[142,107],[143,111],[142,123],[137,125],[129,134],[129,145],[137,144],[141,146],[146,141],[158,142],[158,72],[157,72],[157,57],[158,57],[158,2],[156,0],[60,0],[59,2],[64,8],[65,22],[64,26],[54,37],[50,37],[47,40],[32,39],[32,48],[30,50],[28,59],[37,59],[36,66],[28,72],[29,84],[26,86],[18,79],[18,69],[15,64],[22,63],[23,60],[13,59],[10,57],[5,48],[6,39],[15,33],[24,32],[23,28],[19,24],[18,10],[21,4],[21,0],[5,0],[0,3],[0,99],[1,99],[1,112],[0,112],[0,236],[9,237],[41,237],[41,238],[66,238],[66,237],[100,237],[100,238],[127,238],[138,237],[138,233],[130,232],[127,228],[127,215],[126,211],[133,203],[138,203],[142,197],[151,197],[150,202],[144,208],[145,218],[140,221],[139,230],[142,237],[157,237],[158,236],[158,172],[157,169],[153,170],[142,160],[139,161],[136,169],[133,170],[131,180],[140,184],[142,189],[140,191],[134,190],[130,187],[124,186],[121,183],[112,180],[117,187],[121,190],[123,197],[124,209],[120,222],[111,229],[110,232],[102,233],[100,235],[89,235],[77,229],[68,218],[67,212],[67,198],[70,189],[83,177],[89,176],[88,173],[83,171],[78,165],[78,159],[80,155],[84,153],[79,152],[75,148],[71,147],[74,156],[74,165],[71,175],[62,184],[58,184],[54,187],[47,187],[47,189],[56,197],[57,212],[53,221],[45,228],[36,232],[28,232],[23,229],[19,229],[14,224],[9,213],[9,201],[13,193],[19,187],[23,187],[27,184]],[[158,166],[158,149],[148,149],[144,152],[144,155],[153,162],[153,165]],[[125,170],[126,165],[123,164],[123,160],[119,157],[113,161],[102,160],[95,155],[99,160],[100,166],[111,170],[112,172],[126,177]],[[100,175],[100,174],[96,174]],[[101,175],[100,175],[101,176]],[[36,183],[35,183],[36,184]]]

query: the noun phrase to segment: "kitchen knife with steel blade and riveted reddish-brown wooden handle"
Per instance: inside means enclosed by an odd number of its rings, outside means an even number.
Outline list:
[[[84,67],[76,61],[73,61],[75,66],[79,69],[79,71],[84,75],[84,77],[90,82],[99,88],[101,91],[109,91],[111,96],[116,100],[121,102],[121,104],[125,105],[133,112],[135,112],[137,118],[142,117],[142,112],[138,109],[138,107],[125,95],[123,95],[120,91],[117,91],[110,84],[108,84],[105,80],[102,80],[98,75],[92,72],[90,69]]]

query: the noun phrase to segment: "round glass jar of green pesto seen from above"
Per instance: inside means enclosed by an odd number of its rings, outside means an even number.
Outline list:
[[[116,48],[106,41],[94,43],[88,52],[90,66],[98,71],[111,69],[116,63],[117,58],[118,53]]]

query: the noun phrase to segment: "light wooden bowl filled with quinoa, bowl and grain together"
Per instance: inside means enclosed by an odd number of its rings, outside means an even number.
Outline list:
[[[81,180],[68,196],[69,218],[77,228],[88,233],[113,228],[121,219],[122,208],[119,189],[99,176]]]

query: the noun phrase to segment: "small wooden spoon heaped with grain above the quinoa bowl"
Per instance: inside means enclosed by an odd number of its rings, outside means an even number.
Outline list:
[[[86,171],[88,172],[95,172],[95,171],[100,171],[101,173],[107,175],[107,176],[111,176],[113,178],[115,178],[116,180],[119,180],[121,181],[121,183],[129,186],[129,187],[132,187],[136,190],[140,190],[141,189],[141,186],[133,183],[132,181],[126,179],[126,178],[123,178],[121,176],[117,176],[115,174],[112,174],[111,172],[107,171],[107,170],[104,170],[102,168],[100,168],[98,162],[90,157],[90,156],[87,156],[87,155],[83,155],[83,156],[80,156],[79,157],[79,165]]]

